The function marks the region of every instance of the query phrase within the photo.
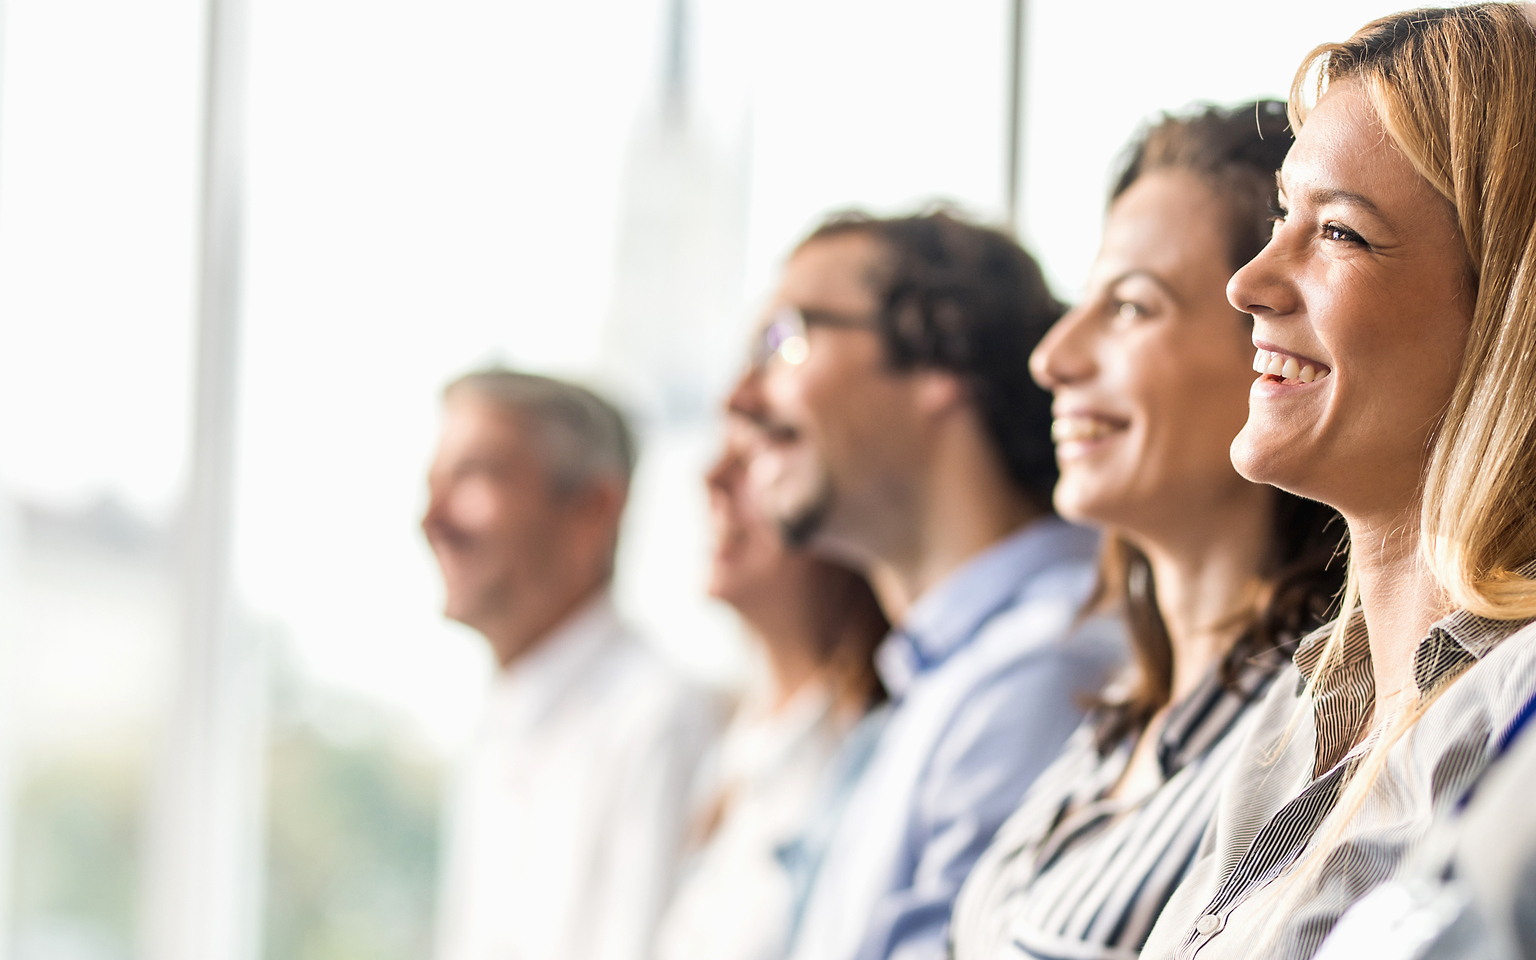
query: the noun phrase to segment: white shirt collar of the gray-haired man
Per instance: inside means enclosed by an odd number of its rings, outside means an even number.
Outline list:
[[[622,630],[613,596],[604,588],[496,671],[487,720],[513,730],[538,725]]]

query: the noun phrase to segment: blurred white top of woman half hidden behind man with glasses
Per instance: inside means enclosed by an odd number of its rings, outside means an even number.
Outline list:
[[[805,828],[839,745],[857,717],[808,684],[782,710],[748,699],[720,743],[725,813],[690,863],[657,940],[657,960],[779,960],[794,889],[779,848]]]

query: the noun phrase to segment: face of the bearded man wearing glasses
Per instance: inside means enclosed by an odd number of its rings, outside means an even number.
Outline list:
[[[748,370],[731,395],[765,442],[753,479],[791,542],[868,559],[871,524],[888,524],[911,481],[912,378],[889,370],[871,276],[882,249],[845,233],[802,247],[768,310],[797,309],[805,339]]]

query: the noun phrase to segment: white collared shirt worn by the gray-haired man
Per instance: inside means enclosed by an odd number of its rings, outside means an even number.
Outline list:
[[[714,699],[607,594],[501,671],[455,785],[438,960],[642,960]]]

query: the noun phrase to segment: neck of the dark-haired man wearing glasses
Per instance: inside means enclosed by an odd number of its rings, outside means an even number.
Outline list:
[[[876,590],[888,614],[905,613],[966,561],[1046,515],[982,438],[940,445],[923,481],[909,507],[895,511],[903,527],[877,558]]]

